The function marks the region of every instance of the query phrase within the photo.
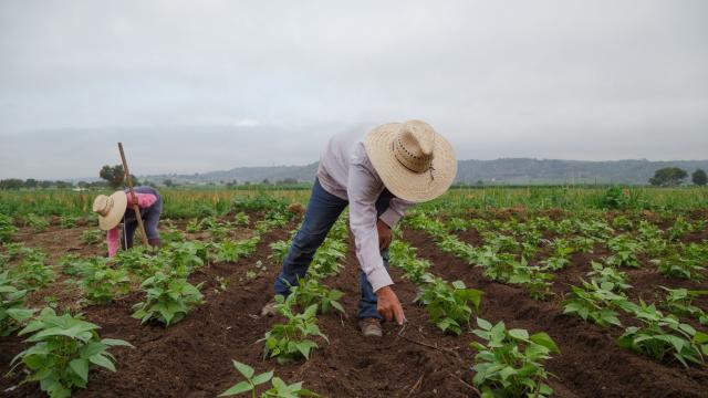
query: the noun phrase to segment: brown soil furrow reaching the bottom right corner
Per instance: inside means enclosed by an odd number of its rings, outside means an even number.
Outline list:
[[[708,396],[708,369],[658,364],[617,346],[614,339],[620,331],[604,331],[581,318],[563,315],[563,293],[570,291],[566,284],[579,284],[577,279],[591,271],[590,255],[574,255],[573,263],[558,272],[555,296],[539,302],[531,298],[524,287],[492,282],[482,275],[481,269],[439,251],[423,232],[406,230],[404,238],[418,248],[419,256],[433,262],[434,274],[448,281],[461,280],[485,292],[481,317],[504,321],[508,327],[525,328],[530,333],[543,331],[556,342],[561,354],[553,355],[546,369],[555,375],[549,384],[558,397]],[[598,259],[600,253],[595,256]],[[634,296],[653,297],[657,284],[700,287],[696,283],[666,279],[647,268],[633,270],[628,276]]]

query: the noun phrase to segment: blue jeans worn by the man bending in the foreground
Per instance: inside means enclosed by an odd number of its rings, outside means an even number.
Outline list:
[[[393,197],[386,189],[381,193],[376,200],[376,211],[379,216],[388,209],[388,202]],[[347,203],[346,200],[325,191],[320,185],[320,180],[315,179],[302,227],[300,227],[298,234],[293,239],[280,274],[275,277],[275,294],[287,296],[290,294],[289,286],[296,285],[298,277],[305,276],[315,251],[322,245],[330,229],[340,218]],[[382,251],[381,255],[386,270],[388,270],[388,249]],[[357,316],[360,318],[373,317],[381,320],[382,316],[376,310],[376,294],[366,279],[366,274],[361,270],[358,272],[358,284],[362,295],[358,301]]]

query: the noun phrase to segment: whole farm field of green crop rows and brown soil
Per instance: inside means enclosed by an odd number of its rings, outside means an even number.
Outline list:
[[[408,323],[385,324],[381,339],[356,324],[344,219],[283,316],[259,316],[308,191],[167,190],[163,250],[111,262],[93,195],[0,192],[3,396],[44,396],[20,384],[39,357],[11,363],[41,338],[70,338],[35,334],[45,307],[116,339],[116,371],[64,364],[85,384],[77,397],[215,397],[244,379],[232,360],[329,397],[706,396],[706,189],[460,189],[413,208],[389,252]],[[28,323],[38,328],[19,336]]]

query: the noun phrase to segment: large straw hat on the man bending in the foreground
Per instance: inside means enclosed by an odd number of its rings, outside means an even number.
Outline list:
[[[386,188],[404,200],[435,199],[457,175],[452,146],[421,121],[378,126],[368,133],[364,147]]]

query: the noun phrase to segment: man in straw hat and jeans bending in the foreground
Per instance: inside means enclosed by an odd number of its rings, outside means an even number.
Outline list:
[[[389,123],[361,135],[330,139],[302,227],[275,279],[275,294],[304,277],[312,258],[348,205],[350,227],[361,265],[360,327],[382,336],[381,321],[403,324],[405,315],[388,275],[391,228],[416,202],[442,195],[455,179],[457,160],[450,144],[420,121]],[[274,314],[274,301],[261,315]]]

